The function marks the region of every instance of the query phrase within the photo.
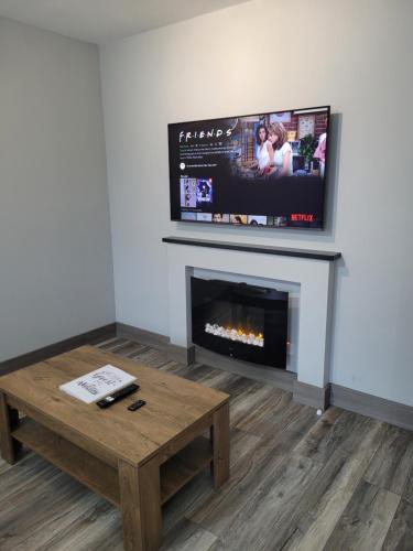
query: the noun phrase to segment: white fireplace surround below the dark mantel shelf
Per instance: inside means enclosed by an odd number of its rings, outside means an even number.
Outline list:
[[[194,270],[300,284],[297,381],[319,389],[328,385],[334,261],[167,242],[167,266],[170,342],[184,348],[192,346]]]

